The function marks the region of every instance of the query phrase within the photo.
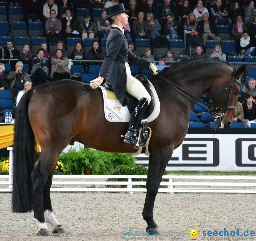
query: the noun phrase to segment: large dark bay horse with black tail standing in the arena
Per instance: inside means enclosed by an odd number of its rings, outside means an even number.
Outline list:
[[[195,105],[171,84],[197,98],[208,93],[220,117],[215,123],[229,127],[245,68],[243,65],[234,69],[225,62],[200,58],[173,64],[159,76],[150,78],[161,110],[159,116],[148,123],[152,136],[142,213],[147,232],[160,233],[153,219],[155,197],[173,150],[187,134],[189,114]],[[86,83],[60,80],[27,91],[19,102],[15,121],[12,211],[34,209],[38,235],[50,235],[46,222],[53,233],[65,233],[53,214],[50,199],[53,172],[61,152],[69,143],[78,141],[105,152],[134,153],[137,151],[134,146],[121,138],[127,125],[106,120],[101,89],[92,89]],[[35,140],[42,150],[36,165]]]

